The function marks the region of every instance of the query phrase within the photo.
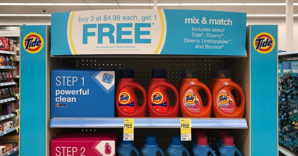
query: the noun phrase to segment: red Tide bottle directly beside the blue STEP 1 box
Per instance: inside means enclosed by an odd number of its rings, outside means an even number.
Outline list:
[[[144,97],[141,106],[134,93],[139,89]],[[145,117],[147,108],[147,93],[144,87],[134,80],[134,70],[120,69],[120,78],[116,90],[116,110],[118,117]]]

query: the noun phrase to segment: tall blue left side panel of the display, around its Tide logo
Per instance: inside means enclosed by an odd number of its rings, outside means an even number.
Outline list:
[[[25,51],[24,37],[37,33],[44,43],[38,53]],[[46,155],[46,26],[21,26],[22,156]]]

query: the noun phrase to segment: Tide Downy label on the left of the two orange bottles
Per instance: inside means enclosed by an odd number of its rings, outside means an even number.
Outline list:
[[[189,89],[183,98],[183,104],[187,111],[192,114],[200,113],[200,101],[192,89]]]

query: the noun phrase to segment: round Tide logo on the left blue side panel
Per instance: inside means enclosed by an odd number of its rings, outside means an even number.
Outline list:
[[[38,53],[43,46],[44,39],[38,33],[32,32],[24,37],[23,47],[28,53]]]

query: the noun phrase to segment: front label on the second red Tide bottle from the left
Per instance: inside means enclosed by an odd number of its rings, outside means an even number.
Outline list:
[[[160,89],[155,89],[150,96],[153,109],[160,113],[167,112],[167,100]]]

